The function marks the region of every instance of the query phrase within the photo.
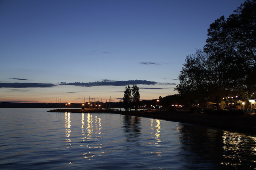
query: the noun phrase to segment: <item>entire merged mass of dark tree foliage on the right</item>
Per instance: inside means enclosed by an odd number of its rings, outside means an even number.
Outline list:
[[[234,12],[210,24],[204,49],[186,57],[174,90],[188,104],[256,91],[256,1],[246,0]]]

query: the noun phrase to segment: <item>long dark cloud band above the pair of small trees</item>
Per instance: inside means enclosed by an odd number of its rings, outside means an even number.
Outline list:
[[[147,80],[127,80],[127,81],[114,81],[114,80],[102,80],[101,82],[74,82],[74,83],[66,83],[61,82],[60,85],[73,85],[73,86],[127,86],[130,84],[157,84],[157,82],[147,81]]]

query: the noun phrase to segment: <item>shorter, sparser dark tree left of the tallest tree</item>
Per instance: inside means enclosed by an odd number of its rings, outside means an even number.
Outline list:
[[[183,66],[179,76],[180,84],[174,90],[183,96],[186,106],[192,103],[204,104],[210,86],[211,68],[208,55],[197,49],[196,53],[186,57]]]

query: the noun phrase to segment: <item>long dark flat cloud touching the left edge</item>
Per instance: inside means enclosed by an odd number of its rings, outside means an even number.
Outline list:
[[[0,83],[0,88],[53,87],[51,83]]]

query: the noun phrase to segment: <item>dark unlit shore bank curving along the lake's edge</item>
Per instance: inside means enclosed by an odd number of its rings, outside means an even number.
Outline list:
[[[114,109],[54,109],[48,112],[116,113],[200,125],[226,131],[244,133],[246,135],[253,135],[256,137],[256,114],[221,115],[206,113],[194,114],[181,111],[119,111]]]

